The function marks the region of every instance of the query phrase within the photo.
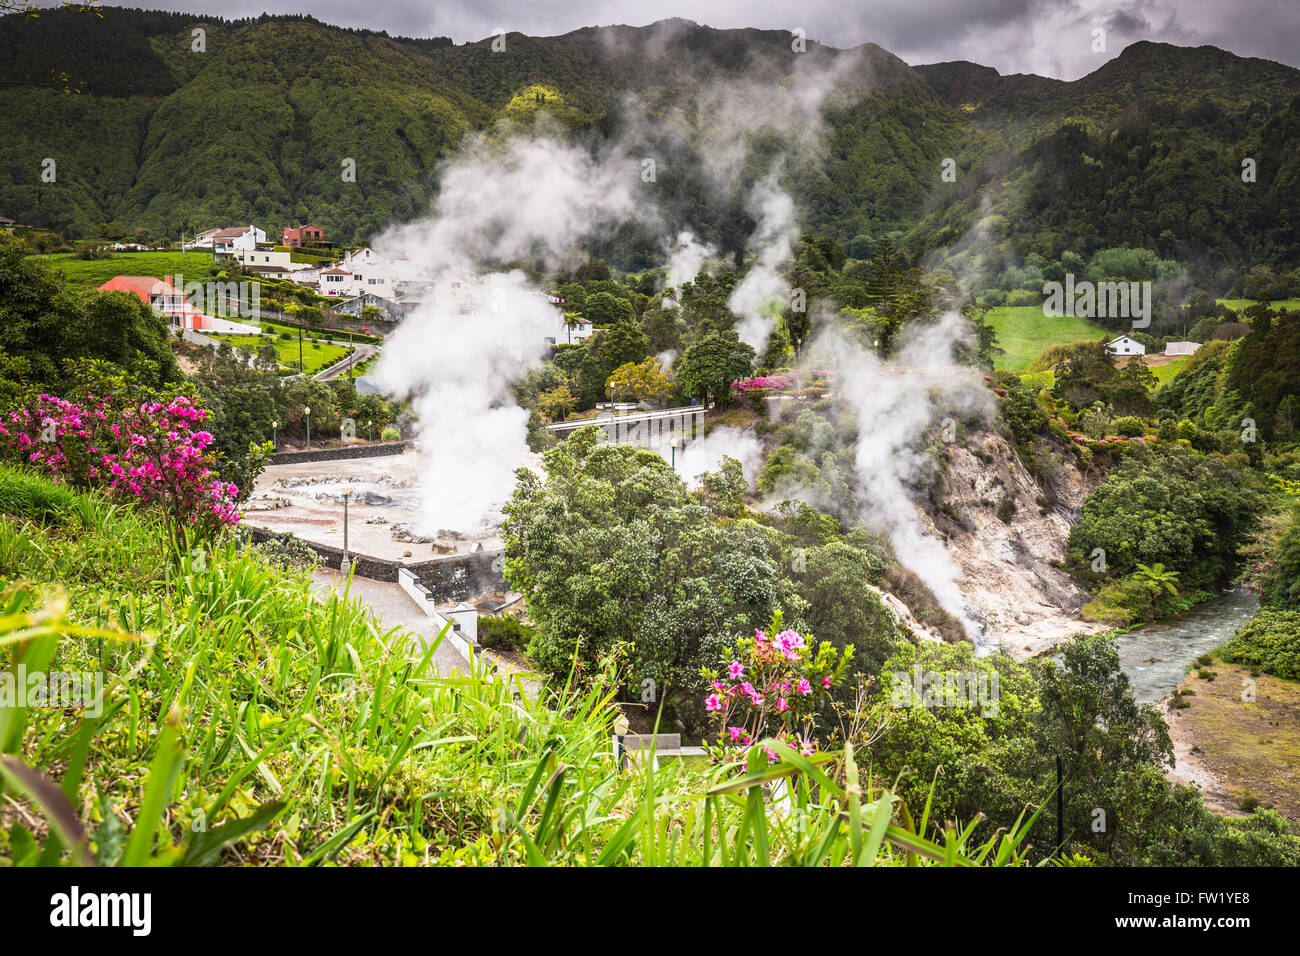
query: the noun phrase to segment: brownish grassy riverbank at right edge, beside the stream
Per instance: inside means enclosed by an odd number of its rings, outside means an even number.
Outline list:
[[[1300,823],[1300,682],[1214,661],[1162,704],[1174,741],[1170,779],[1199,787],[1216,813],[1264,806]]]

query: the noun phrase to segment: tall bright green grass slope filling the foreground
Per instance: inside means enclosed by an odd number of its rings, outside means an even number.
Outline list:
[[[96,497],[0,515],[0,667],[103,675],[101,706],[0,701],[0,866],[1023,862],[1032,819],[976,845],[852,749],[620,769],[612,671],[439,676],[306,572],[160,532]]]

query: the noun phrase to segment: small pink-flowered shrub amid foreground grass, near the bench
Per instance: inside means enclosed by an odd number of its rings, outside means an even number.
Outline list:
[[[719,671],[705,670],[710,693],[705,710],[718,724],[715,758],[775,737],[811,756],[818,708],[844,680],[853,648],[841,653],[828,641],[814,641],[783,627],[781,613],[767,631],[755,631],[736,645],[736,656]],[[767,748],[767,757],[776,752]]]

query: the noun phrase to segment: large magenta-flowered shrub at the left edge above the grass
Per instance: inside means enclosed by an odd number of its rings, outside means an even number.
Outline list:
[[[81,403],[38,395],[0,415],[0,457],[75,488],[157,506],[172,528],[208,536],[235,524],[238,489],[212,470],[208,412],[185,395]]]

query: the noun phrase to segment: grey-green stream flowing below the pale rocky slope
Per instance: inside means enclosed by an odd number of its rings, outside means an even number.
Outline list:
[[[1239,588],[1117,637],[1119,666],[1132,682],[1134,698],[1154,702],[1173,691],[1191,663],[1226,644],[1257,606]]]

